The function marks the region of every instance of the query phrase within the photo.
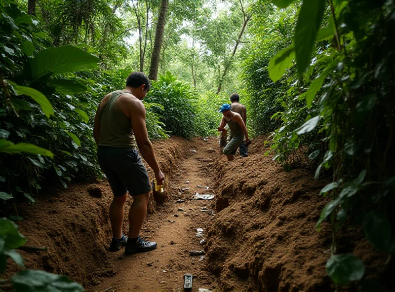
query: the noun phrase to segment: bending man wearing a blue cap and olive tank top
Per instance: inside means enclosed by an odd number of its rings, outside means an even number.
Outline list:
[[[218,131],[221,132],[226,124],[228,124],[231,130],[231,141],[225,146],[224,150],[222,151],[226,157],[228,157],[228,161],[233,160],[233,153],[236,151],[237,147],[240,143],[244,140],[245,136],[245,143],[249,142],[248,139],[248,130],[244,124],[243,118],[237,112],[233,112],[232,108],[228,104],[222,105],[219,112],[222,112],[224,115],[222,117],[221,123],[218,127]]]

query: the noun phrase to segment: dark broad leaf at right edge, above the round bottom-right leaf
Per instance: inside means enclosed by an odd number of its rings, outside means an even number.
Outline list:
[[[377,211],[363,218],[363,232],[367,240],[378,250],[391,252],[391,222]]]

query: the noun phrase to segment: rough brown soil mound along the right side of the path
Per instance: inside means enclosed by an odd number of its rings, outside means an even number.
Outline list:
[[[208,267],[224,291],[333,291],[325,272],[331,229],[326,222],[320,232],[315,228],[327,182],[304,168],[285,172],[264,156],[264,141],[254,141],[249,157],[214,162],[218,213],[208,230]],[[360,231],[344,233],[339,252],[363,255],[367,272],[377,272],[385,257],[374,254]]]

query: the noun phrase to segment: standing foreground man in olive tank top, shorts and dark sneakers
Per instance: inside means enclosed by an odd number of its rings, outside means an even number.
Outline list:
[[[110,251],[126,246],[126,254],[148,252],[157,248],[156,242],[140,237],[151,184],[145,165],[137,152],[154,170],[158,184],[163,184],[154,148],[148,138],[146,111],[142,100],[150,89],[150,80],[144,73],[131,73],[124,90],[107,94],[97,107],[93,134],[98,145],[97,157],[102,171],[114,193],[110,205],[113,239]],[[122,234],[127,194],[133,197],[129,210],[128,238]]]

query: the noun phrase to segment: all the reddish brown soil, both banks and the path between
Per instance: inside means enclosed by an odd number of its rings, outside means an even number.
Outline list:
[[[17,206],[25,218],[20,231],[28,245],[48,247],[47,253],[21,252],[27,268],[66,274],[91,292],[182,291],[184,273],[194,274],[193,291],[333,291],[325,273],[330,226],[325,222],[319,233],[315,229],[326,204],[318,193],[326,183],[314,181],[303,168],[284,172],[264,156],[264,141],[256,139],[250,156],[237,156],[233,162],[219,155],[217,139],[155,143],[170,190],[165,198],[150,200],[141,232],[158,242],[150,253],[107,251],[112,193],[106,182],[44,191],[37,204]],[[190,190],[182,191],[185,187]],[[196,191],[215,193],[216,199],[191,200]],[[124,231],[127,227],[125,221]],[[196,228],[204,230],[204,247],[198,245]],[[388,273],[383,268],[386,258],[372,252],[360,230],[350,228],[344,234],[337,239],[339,252],[360,256],[369,275]],[[201,249],[206,253],[202,261],[189,255]],[[8,275],[17,270],[14,264],[10,267]]]

